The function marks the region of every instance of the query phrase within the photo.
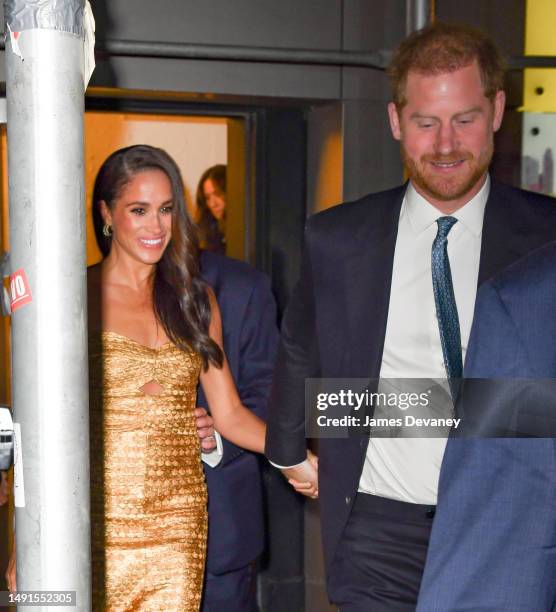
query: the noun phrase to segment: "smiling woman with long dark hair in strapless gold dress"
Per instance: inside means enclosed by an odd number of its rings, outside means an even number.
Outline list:
[[[262,452],[264,424],[228,369],[173,160],[144,145],[116,151],[93,204],[111,243],[88,277],[94,607],[198,610],[207,534],[198,381],[235,444]]]

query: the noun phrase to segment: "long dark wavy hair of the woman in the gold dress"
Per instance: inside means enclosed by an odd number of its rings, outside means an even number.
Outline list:
[[[93,191],[93,221],[100,250],[110,252],[104,236],[101,201],[112,208],[122,189],[145,170],[161,170],[172,186],[172,238],[155,268],[153,304],[168,338],[182,350],[193,349],[209,363],[222,366],[220,347],[209,336],[211,307],[208,286],[199,273],[197,228],[185,207],[183,181],[174,160],[162,149],[136,145],[115,151],[102,164]]]

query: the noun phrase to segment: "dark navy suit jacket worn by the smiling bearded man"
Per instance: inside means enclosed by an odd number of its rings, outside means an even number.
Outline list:
[[[404,193],[402,186],[366,196],[308,222],[301,279],[282,323],[269,402],[266,454],[278,465],[294,465],[305,457],[305,378],[379,376]],[[479,283],[554,238],[552,199],[492,181]],[[367,445],[365,437],[320,440],[327,568],[357,493]]]

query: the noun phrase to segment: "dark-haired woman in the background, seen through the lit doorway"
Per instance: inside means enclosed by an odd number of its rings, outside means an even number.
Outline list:
[[[226,166],[205,170],[197,186],[197,215],[201,247],[226,254]]]

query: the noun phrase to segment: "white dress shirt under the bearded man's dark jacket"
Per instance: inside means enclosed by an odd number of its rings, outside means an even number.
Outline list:
[[[453,213],[448,257],[458,309],[462,359],[471,331],[487,177],[479,193]],[[410,183],[400,211],[381,379],[445,379],[446,370],[432,287],[431,250],[445,216]],[[417,504],[435,505],[445,438],[372,438],[359,491]]]

